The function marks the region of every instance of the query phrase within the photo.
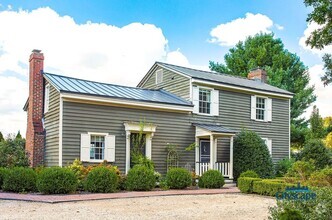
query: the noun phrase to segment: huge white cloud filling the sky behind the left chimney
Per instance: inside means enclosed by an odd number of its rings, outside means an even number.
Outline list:
[[[153,24],[77,24],[70,16],[38,8],[1,11],[0,27],[3,133],[20,129],[25,134],[22,107],[28,97],[28,82],[21,79],[28,77],[32,49],[44,52],[45,72],[129,86],[135,86],[156,60],[189,64],[180,51],[168,51],[167,39]]]

